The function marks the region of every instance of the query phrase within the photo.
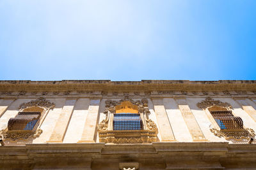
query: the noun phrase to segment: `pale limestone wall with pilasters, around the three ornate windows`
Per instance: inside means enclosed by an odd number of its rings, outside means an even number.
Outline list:
[[[0,130],[5,129],[8,120],[15,117],[19,112],[22,103],[42,96],[26,93],[22,96],[19,93],[11,95],[2,94],[0,96]],[[176,142],[225,142],[247,143],[248,140],[225,139],[218,137],[210,131],[214,125],[204,110],[196,106],[211,96],[212,99],[229,103],[232,106],[232,113],[236,117],[243,119],[244,127],[256,131],[256,95],[253,92],[239,94],[220,92],[218,95],[212,92],[204,94],[198,92],[193,94],[188,92],[175,92],[163,94],[153,91],[150,94],[144,92],[129,92],[128,94],[112,93],[102,94],[102,92],[92,92],[91,94],[81,94],[70,92],[68,94],[53,92],[44,95],[45,99],[56,106],[49,110],[40,125],[42,134],[38,138],[19,139],[16,141],[5,140],[6,145],[25,145],[26,143],[99,143],[97,125],[104,120],[105,101],[111,99],[119,101],[128,96],[129,99],[147,99],[149,118],[152,119],[159,129],[158,141]],[[256,141],[253,141],[256,143]]]

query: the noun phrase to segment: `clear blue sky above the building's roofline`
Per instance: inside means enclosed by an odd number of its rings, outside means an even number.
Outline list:
[[[0,80],[256,80],[256,1],[0,0]]]

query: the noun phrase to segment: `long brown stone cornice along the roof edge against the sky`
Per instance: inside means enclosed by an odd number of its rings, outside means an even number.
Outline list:
[[[256,91],[255,80],[62,80],[62,81],[0,81],[1,92],[153,92],[153,91]]]

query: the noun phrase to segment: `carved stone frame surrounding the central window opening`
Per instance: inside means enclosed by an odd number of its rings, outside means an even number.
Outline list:
[[[121,104],[124,101],[129,101],[134,105],[138,106],[138,113],[141,115],[143,120],[143,130],[136,131],[113,131],[113,120],[111,115],[115,113],[115,106]],[[122,99],[120,101],[112,101],[108,99],[106,101],[106,109],[104,114],[106,118],[98,125],[99,141],[102,143],[152,143],[157,141],[158,129],[154,121],[148,118],[148,101],[147,99],[141,99],[141,101],[133,101],[132,99]]]

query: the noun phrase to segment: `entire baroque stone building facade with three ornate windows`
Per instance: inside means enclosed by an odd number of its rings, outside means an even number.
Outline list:
[[[0,169],[256,169],[256,81],[0,81]]]

